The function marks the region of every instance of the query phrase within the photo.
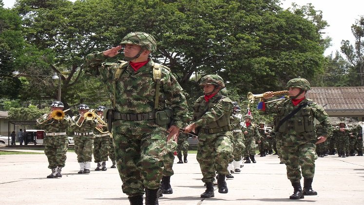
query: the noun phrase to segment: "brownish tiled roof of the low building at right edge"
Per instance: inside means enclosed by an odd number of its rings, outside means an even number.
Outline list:
[[[364,110],[364,87],[311,87],[306,96],[325,110]]]

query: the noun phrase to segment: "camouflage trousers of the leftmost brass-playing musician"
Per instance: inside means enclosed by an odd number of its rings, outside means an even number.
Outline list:
[[[46,136],[43,143],[44,154],[48,159],[48,168],[64,167],[67,159],[67,136]]]

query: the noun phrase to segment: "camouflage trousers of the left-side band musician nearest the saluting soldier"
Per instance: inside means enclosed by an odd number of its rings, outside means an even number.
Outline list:
[[[95,137],[94,139],[94,162],[108,161],[110,149],[110,136]]]

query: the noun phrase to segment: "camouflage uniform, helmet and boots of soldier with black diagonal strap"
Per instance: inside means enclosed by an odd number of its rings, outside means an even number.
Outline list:
[[[300,93],[310,90],[310,84],[306,79],[296,78],[287,82],[287,88],[300,88]],[[291,97],[296,98],[297,96]],[[266,106],[266,113],[274,113],[275,125],[284,119],[289,113],[303,106],[294,116],[287,119],[281,126],[276,127],[276,140],[280,147],[282,160],[287,166],[287,178],[291,181],[294,187],[294,193],[290,199],[302,199],[303,194],[317,195],[317,192],[312,190],[312,181],[315,173],[316,155],[316,133],[314,130],[314,119],[323,126],[322,135],[329,136],[330,122],[324,108],[316,103],[306,104],[308,99],[303,99],[296,106],[291,99],[286,99],[280,102],[272,102]],[[304,189],[302,192],[300,180],[301,170],[304,177]]]

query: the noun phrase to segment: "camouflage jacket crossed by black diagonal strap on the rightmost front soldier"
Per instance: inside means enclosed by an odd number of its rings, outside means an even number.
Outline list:
[[[289,115],[294,109],[301,104],[311,101],[304,99],[298,105],[294,106],[291,99],[272,102],[266,106],[265,113],[276,114],[275,126],[284,117]],[[328,115],[324,108],[313,102],[302,107],[294,116],[282,123],[276,130],[276,139],[287,145],[297,145],[303,142],[316,142],[316,133],[314,120],[317,120],[322,125],[322,135],[328,137],[331,134],[331,124],[328,120]]]

